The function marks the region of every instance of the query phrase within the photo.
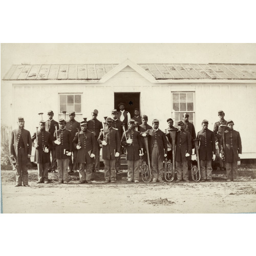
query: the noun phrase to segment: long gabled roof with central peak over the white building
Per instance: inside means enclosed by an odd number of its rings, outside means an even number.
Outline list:
[[[126,66],[130,66],[151,82],[174,79],[256,79],[255,64],[136,64],[126,59],[119,65],[12,65],[3,80],[85,80],[105,82]]]

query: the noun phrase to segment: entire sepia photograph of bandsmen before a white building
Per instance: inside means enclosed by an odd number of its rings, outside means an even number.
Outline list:
[[[2,43],[2,212],[256,212],[255,96],[256,44]]]

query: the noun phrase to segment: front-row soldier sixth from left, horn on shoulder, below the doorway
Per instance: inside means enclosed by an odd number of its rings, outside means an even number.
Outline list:
[[[126,140],[127,138],[127,140]],[[126,147],[126,160],[128,165],[128,180],[127,182],[139,182],[139,164],[140,156],[142,156],[142,143],[139,132],[134,129],[134,120],[129,120],[129,129],[123,133],[121,145]]]

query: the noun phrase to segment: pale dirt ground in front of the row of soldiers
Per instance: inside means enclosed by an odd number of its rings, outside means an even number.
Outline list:
[[[15,172],[2,171],[1,175],[4,213],[256,212],[256,180],[251,177],[226,182],[215,174],[213,182],[205,183],[127,184],[120,176],[114,184],[79,184],[74,175],[68,184],[57,184],[56,174],[50,174],[51,183],[36,184],[34,170],[30,187],[14,187]]]

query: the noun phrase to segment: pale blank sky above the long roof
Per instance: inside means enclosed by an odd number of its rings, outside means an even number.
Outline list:
[[[256,63],[256,44],[1,44],[1,79],[11,65]]]

